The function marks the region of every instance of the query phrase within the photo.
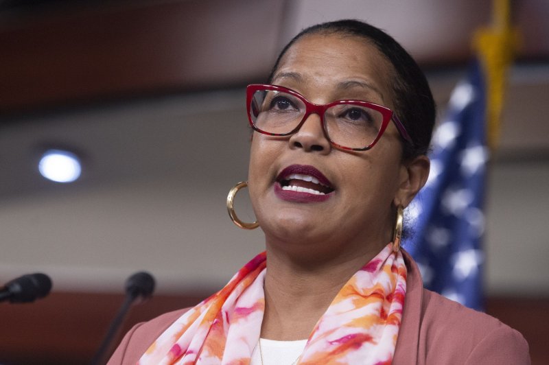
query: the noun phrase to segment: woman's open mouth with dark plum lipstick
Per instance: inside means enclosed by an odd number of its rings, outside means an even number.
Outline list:
[[[287,191],[299,191],[314,195],[326,195],[334,191],[329,180],[312,166],[288,166],[279,174],[277,182],[282,190]]]

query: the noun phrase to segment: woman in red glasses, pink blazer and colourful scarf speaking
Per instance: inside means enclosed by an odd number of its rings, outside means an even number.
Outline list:
[[[266,254],[196,307],[134,327],[110,364],[529,363],[517,331],[424,290],[399,247],[435,113],[393,38],[358,21],[310,27],[247,96]],[[232,209],[244,186],[228,207],[253,228]]]

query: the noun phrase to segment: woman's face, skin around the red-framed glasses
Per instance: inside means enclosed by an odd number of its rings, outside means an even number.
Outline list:
[[[315,104],[359,99],[394,110],[392,74],[390,63],[364,39],[313,34],[288,49],[272,84],[293,89]],[[346,250],[357,255],[388,244],[395,204],[408,204],[400,192],[407,174],[401,153],[392,122],[364,152],[332,147],[318,115],[310,115],[290,137],[254,132],[248,187],[267,244],[325,255]],[[305,181],[309,176],[328,188]],[[325,195],[288,191],[284,185]]]

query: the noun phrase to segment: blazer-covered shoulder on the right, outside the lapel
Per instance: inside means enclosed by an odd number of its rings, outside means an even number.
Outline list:
[[[528,344],[518,331],[425,289],[419,337],[428,364],[457,359],[460,364],[530,364]]]

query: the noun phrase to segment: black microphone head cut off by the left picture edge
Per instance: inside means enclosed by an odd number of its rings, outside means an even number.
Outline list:
[[[51,279],[46,274],[26,274],[13,279],[0,290],[0,302],[31,303],[43,298],[51,290]]]

